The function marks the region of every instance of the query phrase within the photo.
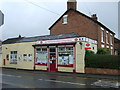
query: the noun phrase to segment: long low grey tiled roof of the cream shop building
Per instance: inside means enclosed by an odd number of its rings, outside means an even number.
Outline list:
[[[54,39],[64,39],[64,38],[73,38],[80,37],[78,33],[66,33],[66,34],[57,34],[57,35],[45,35],[45,36],[35,36],[35,37],[18,37],[18,38],[10,38],[3,41],[2,44],[13,44],[13,43],[21,43],[21,42],[34,42],[39,40],[54,40]]]

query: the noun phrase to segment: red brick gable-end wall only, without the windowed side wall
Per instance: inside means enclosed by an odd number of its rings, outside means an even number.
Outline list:
[[[88,18],[74,12],[69,11],[68,15],[68,24],[62,24],[62,19],[58,21],[57,24],[51,29],[50,34],[64,34],[76,32],[81,36],[87,36],[92,39],[97,40],[97,24]],[[95,34],[96,33],[96,34]]]

